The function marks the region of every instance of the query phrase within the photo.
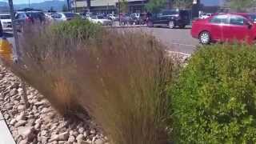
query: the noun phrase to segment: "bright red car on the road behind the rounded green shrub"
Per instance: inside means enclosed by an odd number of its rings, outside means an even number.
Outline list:
[[[192,23],[191,35],[202,44],[256,40],[256,24],[249,14],[214,14]]]

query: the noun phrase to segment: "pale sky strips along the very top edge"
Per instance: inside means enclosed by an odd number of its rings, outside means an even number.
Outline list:
[[[0,2],[7,2],[7,1],[8,0],[0,0]],[[30,3],[38,3],[38,2],[44,2],[45,0],[13,0],[14,4],[28,3],[29,1]],[[201,0],[203,4],[210,5],[210,6],[218,5],[222,1],[223,0]]]

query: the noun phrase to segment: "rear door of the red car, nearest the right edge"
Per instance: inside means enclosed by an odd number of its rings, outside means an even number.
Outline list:
[[[230,26],[227,34],[229,41],[234,42],[249,42],[253,37],[252,26],[248,25],[250,22],[245,17],[240,15],[230,15]]]

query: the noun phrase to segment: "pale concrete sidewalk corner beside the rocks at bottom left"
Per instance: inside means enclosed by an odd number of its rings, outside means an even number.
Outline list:
[[[16,144],[0,111],[0,144]]]

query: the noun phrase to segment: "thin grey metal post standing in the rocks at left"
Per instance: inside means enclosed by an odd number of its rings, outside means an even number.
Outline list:
[[[13,46],[14,59],[16,59],[18,62],[19,61],[18,55],[20,54],[20,51],[19,51],[19,45],[18,45],[18,33],[17,33],[17,29],[16,29],[16,22],[15,22],[15,16],[14,16],[14,3],[12,0],[8,0],[8,2],[9,2],[9,7],[10,7],[11,25],[14,30],[14,43],[15,43],[15,46]],[[28,108],[29,102],[27,100],[27,95],[26,95],[26,84],[22,80],[21,80],[21,83],[22,83],[22,90],[23,90],[22,97],[25,102],[26,108]]]

